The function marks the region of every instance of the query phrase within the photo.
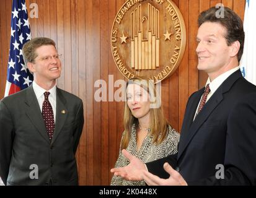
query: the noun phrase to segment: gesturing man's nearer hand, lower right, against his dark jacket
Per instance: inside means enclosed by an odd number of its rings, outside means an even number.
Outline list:
[[[182,178],[179,172],[175,171],[169,163],[164,163],[164,170],[170,174],[168,179],[162,179],[158,176],[143,171],[143,179],[149,186],[187,186],[187,182]]]

